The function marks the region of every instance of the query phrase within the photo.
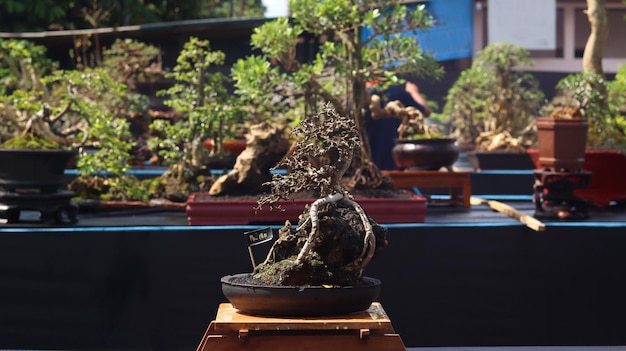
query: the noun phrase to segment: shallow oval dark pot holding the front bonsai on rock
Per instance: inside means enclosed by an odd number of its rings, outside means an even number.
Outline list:
[[[358,286],[270,286],[247,282],[250,273],[222,277],[222,292],[242,313],[262,316],[336,316],[367,310],[381,282],[363,277]]]

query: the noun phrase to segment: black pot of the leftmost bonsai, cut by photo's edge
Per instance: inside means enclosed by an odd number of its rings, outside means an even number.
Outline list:
[[[68,162],[76,155],[67,150],[0,149],[0,189],[37,189],[56,192],[63,185]]]

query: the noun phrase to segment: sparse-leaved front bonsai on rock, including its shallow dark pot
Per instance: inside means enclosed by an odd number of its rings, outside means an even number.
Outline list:
[[[340,183],[359,150],[354,122],[329,105],[294,129],[296,147],[276,167],[259,208],[314,193],[296,225],[285,222],[264,262],[250,274],[222,279],[224,294],[242,312],[337,315],[367,309],[380,281],[363,276],[386,229],[372,220]]]

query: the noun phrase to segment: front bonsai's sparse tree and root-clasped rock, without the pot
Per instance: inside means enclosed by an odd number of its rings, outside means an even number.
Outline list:
[[[276,166],[288,172],[274,175],[271,193],[259,199],[259,207],[300,192],[319,198],[307,206],[296,228],[285,223],[253,277],[280,285],[354,285],[386,234],[340,184],[360,152],[356,124],[327,104],[293,133],[295,150]]]

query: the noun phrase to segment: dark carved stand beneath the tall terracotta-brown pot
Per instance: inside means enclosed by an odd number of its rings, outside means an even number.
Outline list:
[[[591,172],[554,172],[535,170],[533,202],[535,217],[548,219],[589,218],[589,202],[574,190],[589,185]]]

